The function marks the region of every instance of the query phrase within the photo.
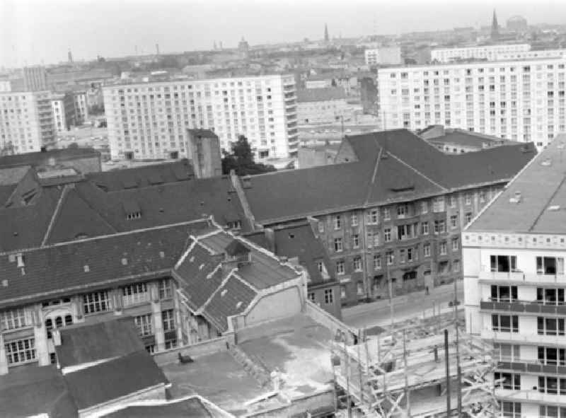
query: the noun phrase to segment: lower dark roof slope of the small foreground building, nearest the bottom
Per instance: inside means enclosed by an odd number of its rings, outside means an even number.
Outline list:
[[[67,373],[64,380],[79,410],[159,384],[168,384],[167,378],[145,349]]]

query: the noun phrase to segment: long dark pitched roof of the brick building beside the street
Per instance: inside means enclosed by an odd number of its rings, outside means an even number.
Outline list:
[[[446,155],[406,129],[346,137],[344,145],[357,161],[251,177],[244,191],[255,219],[268,224],[504,182],[536,153],[517,144]]]

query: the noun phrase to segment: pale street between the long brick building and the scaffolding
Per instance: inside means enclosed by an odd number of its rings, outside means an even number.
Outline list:
[[[454,308],[449,307],[449,301],[454,299],[454,284],[444,284],[435,287],[429,295],[417,291],[393,298],[393,322],[400,322],[423,315],[426,317],[439,313],[447,313]],[[458,281],[459,308],[463,306],[462,281]],[[439,311],[440,309],[440,311]],[[391,308],[389,300],[362,303],[350,308],[342,308],[342,321],[357,328],[386,326],[391,324]]]

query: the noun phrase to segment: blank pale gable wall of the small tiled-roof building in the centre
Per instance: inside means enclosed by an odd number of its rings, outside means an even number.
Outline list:
[[[246,326],[287,318],[301,312],[301,294],[293,286],[261,298],[246,315]]]

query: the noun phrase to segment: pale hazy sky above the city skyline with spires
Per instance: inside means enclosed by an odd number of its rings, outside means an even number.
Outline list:
[[[0,67],[459,26],[566,23],[565,0],[0,0]]]

